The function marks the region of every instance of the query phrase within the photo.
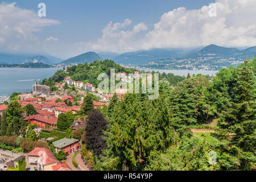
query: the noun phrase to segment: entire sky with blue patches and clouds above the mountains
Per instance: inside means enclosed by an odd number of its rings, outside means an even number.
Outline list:
[[[38,16],[39,3],[46,17]],[[255,0],[5,0],[0,50],[68,59],[88,51],[256,46],[255,7]]]

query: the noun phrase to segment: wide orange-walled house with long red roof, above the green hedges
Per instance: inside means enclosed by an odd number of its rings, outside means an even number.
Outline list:
[[[30,115],[23,119],[23,121],[30,121],[31,125],[38,125],[39,129],[46,130],[47,127],[52,127],[54,124],[57,123],[58,118],[53,117],[51,115],[44,115],[44,114],[36,114],[36,115]]]

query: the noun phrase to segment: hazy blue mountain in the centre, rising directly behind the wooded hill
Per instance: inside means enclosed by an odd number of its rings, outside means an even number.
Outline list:
[[[143,64],[158,59],[166,59],[170,57],[177,57],[179,51],[168,49],[151,49],[149,51],[135,51],[127,52],[114,57],[114,61],[119,64]]]

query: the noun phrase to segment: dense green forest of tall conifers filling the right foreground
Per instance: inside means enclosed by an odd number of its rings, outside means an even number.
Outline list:
[[[160,82],[157,100],[114,97],[108,128],[97,120],[100,154],[88,141],[82,154],[97,170],[255,170],[255,73],[256,57],[210,79],[188,75],[175,89]]]

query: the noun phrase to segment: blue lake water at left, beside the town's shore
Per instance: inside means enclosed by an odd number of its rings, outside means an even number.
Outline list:
[[[31,92],[34,81],[19,80],[43,80],[53,76],[58,69],[62,68],[0,68],[0,96]]]

